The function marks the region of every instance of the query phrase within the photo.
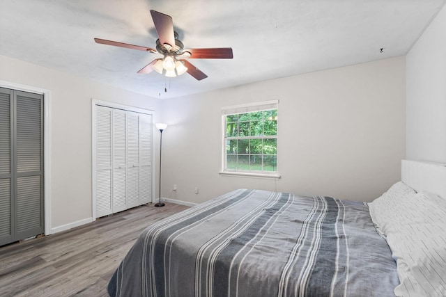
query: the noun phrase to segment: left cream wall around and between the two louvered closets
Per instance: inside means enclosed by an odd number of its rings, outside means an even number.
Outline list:
[[[0,56],[0,65],[0,81],[51,91],[52,230],[88,221],[92,216],[91,99],[154,111],[160,101],[6,56]]]

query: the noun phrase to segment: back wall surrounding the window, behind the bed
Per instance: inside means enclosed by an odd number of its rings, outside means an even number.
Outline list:
[[[203,202],[236,188],[262,188],[373,200],[401,179],[405,63],[390,58],[164,100],[162,196]],[[222,106],[271,99],[279,99],[282,178],[219,175]]]

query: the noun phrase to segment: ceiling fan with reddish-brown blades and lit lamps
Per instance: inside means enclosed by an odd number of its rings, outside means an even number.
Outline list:
[[[185,60],[185,58],[233,58],[231,47],[184,49],[183,42],[178,40],[178,33],[174,31],[172,17],[164,15],[164,13],[158,13],[155,10],[151,10],[151,15],[159,37],[156,40],[156,49],[100,38],[95,38],[95,42],[102,45],[114,45],[115,47],[148,51],[153,54],[162,54],[164,56],[164,58],[157,58],[151,63],[148,63],[148,65],[144,66],[138,73],[150,73],[155,70],[156,72],[163,74],[165,70],[164,75],[166,77],[176,77],[177,75],[187,72],[199,81],[201,81],[201,79],[206,79],[208,76],[189,61]]]

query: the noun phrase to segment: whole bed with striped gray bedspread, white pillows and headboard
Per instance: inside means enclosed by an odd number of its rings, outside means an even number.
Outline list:
[[[165,218],[139,236],[109,295],[444,296],[446,200],[435,193],[446,197],[446,167],[424,165],[403,161],[403,181],[372,203],[238,189]],[[436,211],[414,219],[408,201]]]

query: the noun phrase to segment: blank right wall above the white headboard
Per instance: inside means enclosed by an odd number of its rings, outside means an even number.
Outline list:
[[[406,56],[407,159],[446,163],[446,6]]]

